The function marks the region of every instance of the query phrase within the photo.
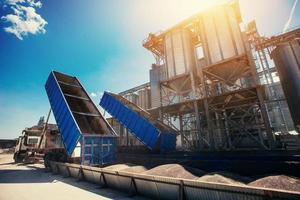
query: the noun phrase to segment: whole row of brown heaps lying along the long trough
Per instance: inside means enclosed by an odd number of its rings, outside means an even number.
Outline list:
[[[285,175],[267,176],[264,178],[253,180],[251,178],[240,176],[238,174],[230,172],[220,171],[213,173],[205,173],[202,170],[191,167],[185,167],[179,164],[160,165],[148,170],[148,168],[144,166],[125,163],[111,165],[105,167],[104,169],[239,186],[247,184],[253,187],[263,187],[300,192],[300,179]]]

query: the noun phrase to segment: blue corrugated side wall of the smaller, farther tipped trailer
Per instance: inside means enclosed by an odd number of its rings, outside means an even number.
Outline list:
[[[155,148],[159,131],[145,118],[132,111],[107,92],[102,96],[100,106],[129,129],[149,149]]]

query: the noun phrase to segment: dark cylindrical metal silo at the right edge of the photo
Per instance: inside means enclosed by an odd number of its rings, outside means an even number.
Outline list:
[[[272,51],[291,116],[300,130],[300,39],[278,45]]]

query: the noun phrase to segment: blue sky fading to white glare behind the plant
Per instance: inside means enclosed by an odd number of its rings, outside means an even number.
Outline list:
[[[51,70],[77,76],[97,104],[105,90],[148,82],[154,58],[142,41],[215,1],[0,0],[0,139],[48,113]],[[299,4],[240,0],[244,23],[256,20],[265,36],[300,26]]]

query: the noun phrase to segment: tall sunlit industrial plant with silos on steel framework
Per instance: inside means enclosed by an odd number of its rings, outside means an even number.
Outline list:
[[[181,151],[299,149],[300,29],[245,30],[238,1],[150,33],[150,82],[121,92],[177,131]],[[143,144],[113,118],[118,145]]]

